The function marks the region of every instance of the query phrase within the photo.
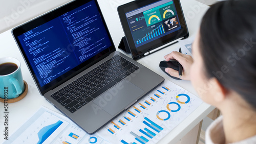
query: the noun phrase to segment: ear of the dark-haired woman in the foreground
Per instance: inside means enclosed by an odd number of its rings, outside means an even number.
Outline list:
[[[218,81],[218,79],[210,78],[210,84],[213,88],[212,92],[214,92],[214,100],[216,102],[225,100],[228,90]]]

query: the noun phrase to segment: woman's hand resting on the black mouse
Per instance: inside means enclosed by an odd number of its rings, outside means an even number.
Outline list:
[[[193,58],[189,55],[185,55],[179,52],[172,52],[166,56],[164,56],[165,61],[169,61],[170,59],[177,60],[183,67],[182,80],[190,80],[190,67],[193,63]],[[166,73],[171,76],[179,78],[179,71],[174,70],[173,68],[165,68]]]

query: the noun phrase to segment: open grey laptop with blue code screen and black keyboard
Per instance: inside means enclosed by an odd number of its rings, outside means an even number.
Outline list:
[[[72,1],[12,34],[40,94],[89,134],[164,81],[116,51],[95,0]]]

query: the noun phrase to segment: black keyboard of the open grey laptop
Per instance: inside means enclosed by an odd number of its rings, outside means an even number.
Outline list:
[[[115,55],[51,97],[73,113],[138,69],[135,64]]]

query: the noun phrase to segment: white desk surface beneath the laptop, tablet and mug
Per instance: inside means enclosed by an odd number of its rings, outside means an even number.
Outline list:
[[[122,31],[121,23],[117,14],[117,6],[127,3],[126,0],[98,0],[102,13],[105,17],[106,23],[109,27],[110,33],[112,35],[115,46],[117,47],[121,37],[124,36]],[[131,0],[129,0],[130,2]],[[180,0],[181,5],[184,11],[184,15],[187,21],[188,30],[190,35],[195,35],[200,25],[201,18],[203,14],[208,9],[208,6],[203,5],[195,0]],[[157,74],[164,77],[166,80],[172,81],[175,84],[185,88],[191,93],[197,95],[195,89],[191,86],[189,81],[179,81],[169,78],[164,72],[159,68],[159,62],[164,60],[163,56],[170,53],[179,44],[176,43],[165,49],[158,51],[152,55],[144,57],[138,62],[144,66],[152,69]],[[118,50],[119,51],[119,50]],[[131,55],[127,55],[131,57]],[[11,30],[8,30],[0,34],[0,58],[2,57],[15,57],[22,63],[22,73],[24,80],[29,85],[29,91],[27,96],[16,103],[9,104],[9,136],[15,132],[17,128],[22,126],[29,117],[31,117],[40,106],[45,106],[53,111],[60,113],[55,109],[49,102],[47,102],[44,97],[39,94],[39,91],[36,88],[36,85],[30,75],[28,67],[20,54],[18,47],[12,37]],[[0,143],[4,140],[3,130],[4,130],[4,105],[0,103]],[[169,132],[159,143],[176,143],[181,139],[187,132],[193,129],[202,119],[210,113],[214,107],[209,106],[208,104],[203,103],[196,109],[192,114],[184,119],[176,128]]]

